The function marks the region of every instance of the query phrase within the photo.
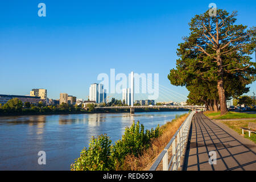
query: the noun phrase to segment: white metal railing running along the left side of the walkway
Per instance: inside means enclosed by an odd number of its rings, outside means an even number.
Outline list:
[[[191,126],[191,121],[193,115],[196,111],[192,111],[185,121],[181,124],[179,129],[174,134],[174,137],[170,140],[164,150],[160,153],[158,158],[156,159],[155,163],[151,166],[150,171],[155,171],[158,168],[159,164],[163,160],[163,171],[168,171],[171,167],[171,171],[176,171],[180,167],[180,159],[183,154],[183,150],[185,147],[185,141],[188,138],[189,129]],[[171,147],[172,146],[172,147]],[[172,154],[170,162],[168,163],[168,152],[172,148]]]

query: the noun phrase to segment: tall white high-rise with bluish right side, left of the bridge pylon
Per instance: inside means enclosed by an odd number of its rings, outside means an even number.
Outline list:
[[[96,103],[106,102],[106,90],[102,84],[91,84],[89,89],[89,100]]]

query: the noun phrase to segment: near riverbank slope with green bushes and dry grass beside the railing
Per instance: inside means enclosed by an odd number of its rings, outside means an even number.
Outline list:
[[[133,123],[126,128],[122,139],[115,143],[107,135],[93,137],[89,147],[84,148],[80,157],[71,164],[71,170],[138,171],[149,168],[187,116],[176,115],[160,129],[158,125],[146,131],[143,125]]]

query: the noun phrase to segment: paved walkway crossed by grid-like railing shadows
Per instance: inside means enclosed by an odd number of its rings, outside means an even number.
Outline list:
[[[209,151],[216,151],[217,164],[209,164]],[[196,113],[192,119],[183,170],[256,170],[256,144],[223,123]]]

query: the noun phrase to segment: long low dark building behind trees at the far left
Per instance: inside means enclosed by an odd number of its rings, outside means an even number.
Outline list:
[[[17,96],[17,95],[2,95],[0,94],[0,104],[4,105],[6,102],[11,100],[12,98],[18,98],[20,101],[23,102],[30,102],[30,104],[37,105],[38,102],[42,101],[40,97],[35,96]]]

